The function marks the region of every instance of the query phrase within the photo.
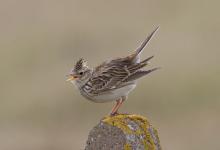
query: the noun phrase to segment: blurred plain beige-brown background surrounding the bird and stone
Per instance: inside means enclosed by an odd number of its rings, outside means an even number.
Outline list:
[[[87,101],[65,82],[132,52],[160,30],[155,55],[120,111],[146,116],[164,150],[220,149],[220,19],[217,0],[1,0],[0,149],[83,150],[113,103]]]

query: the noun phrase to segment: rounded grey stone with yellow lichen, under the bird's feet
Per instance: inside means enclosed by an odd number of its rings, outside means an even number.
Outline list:
[[[161,150],[159,137],[145,117],[107,116],[89,134],[85,150]]]

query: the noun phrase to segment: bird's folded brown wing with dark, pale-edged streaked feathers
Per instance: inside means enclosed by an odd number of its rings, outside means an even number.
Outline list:
[[[126,79],[146,66],[151,58],[153,58],[153,56],[136,64],[130,63],[122,58],[104,62],[95,69],[92,78],[85,84],[85,86],[88,87],[87,92],[98,94],[121,87],[128,81]]]

